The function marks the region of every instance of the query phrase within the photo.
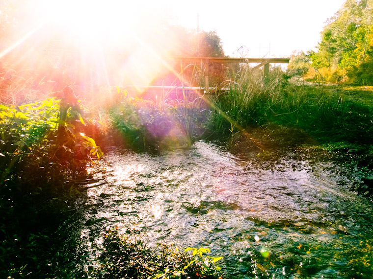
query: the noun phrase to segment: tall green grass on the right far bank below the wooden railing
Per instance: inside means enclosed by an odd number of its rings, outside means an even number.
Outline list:
[[[244,65],[234,80],[229,90],[209,97],[209,127],[217,134],[276,124],[298,127],[324,140],[369,141],[373,136],[372,107],[348,99],[343,91],[295,85],[276,68],[264,78]]]

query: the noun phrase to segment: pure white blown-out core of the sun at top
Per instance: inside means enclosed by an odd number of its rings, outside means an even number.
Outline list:
[[[128,38],[138,28],[136,12],[128,1],[42,0],[36,10],[66,39],[84,47]]]

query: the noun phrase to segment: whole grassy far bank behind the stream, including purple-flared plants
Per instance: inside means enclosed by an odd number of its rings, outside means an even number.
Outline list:
[[[124,97],[105,112],[113,120],[111,134],[119,133],[135,149],[226,137],[248,138],[259,150],[341,141],[370,148],[373,108],[367,93],[294,84],[279,69],[263,78],[245,65],[224,87],[229,90],[194,95],[191,101],[185,95],[161,101]]]

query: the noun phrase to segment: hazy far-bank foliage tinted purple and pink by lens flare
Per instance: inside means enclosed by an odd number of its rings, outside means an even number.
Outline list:
[[[155,102],[125,97],[110,110],[113,126],[126,145],[135,149],[191,146],[200,136],[207,112],[203,97],[187,88],[181,99],[162,96]]]

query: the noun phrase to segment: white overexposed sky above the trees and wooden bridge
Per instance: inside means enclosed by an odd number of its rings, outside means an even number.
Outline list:
[[[225,55],[280,58],[295,50],[315,49],[325,22],[346,0],[19,1],[23,3],[19,7],[37,18],[59,18],[80,40],[87,34],[94,36],[99,28],[116,37],[126,29],[136,32],[142,22],[171,21],[196,30],[198,13],[199,30],[216,31]]]

